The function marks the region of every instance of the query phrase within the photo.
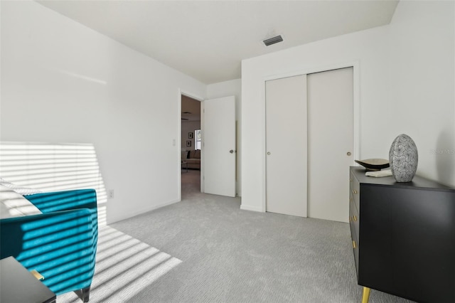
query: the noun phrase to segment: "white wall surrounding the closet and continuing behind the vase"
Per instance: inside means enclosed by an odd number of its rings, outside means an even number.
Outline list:
[[[453,2],[400,1],[389,26],[243,60],[242,209],[265,211],[264,80],[347,63],[357,63],[359,72],[355,159],[388,159],[393,139],[405,132],[419,147],[418,174],[455,185],[455,154],[429,152],[454,150],[453,6]],[[415,49],[419,46],[423,48]],[[434,85],[438,91],[432,94]],[[444,112],[444,120],[433,117],[435,112]],[[435,162],[445,171],[437,172]]]

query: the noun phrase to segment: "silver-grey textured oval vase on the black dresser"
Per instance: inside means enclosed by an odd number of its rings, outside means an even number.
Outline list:
[[[389,151],[392,176],[397,182],[410,182],[417,171],[419,155],[414,141],[407,134],[400,134]]]

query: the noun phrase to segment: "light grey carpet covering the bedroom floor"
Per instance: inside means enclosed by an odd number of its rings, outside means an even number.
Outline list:
[[[360,302],[347,223],[241,211],[198,178],[182,173],[180,203],[100,231],[90,302]]]

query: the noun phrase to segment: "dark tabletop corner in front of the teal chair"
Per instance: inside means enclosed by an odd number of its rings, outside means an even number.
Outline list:
[[[0,302],[53,303],[55,294],[14,257],[0,260]]]

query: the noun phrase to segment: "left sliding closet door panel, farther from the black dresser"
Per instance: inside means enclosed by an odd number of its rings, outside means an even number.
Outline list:
[[[306,75],[266,88],[266,211],[306,217]]]

